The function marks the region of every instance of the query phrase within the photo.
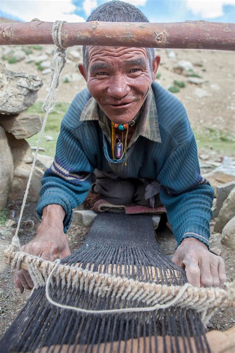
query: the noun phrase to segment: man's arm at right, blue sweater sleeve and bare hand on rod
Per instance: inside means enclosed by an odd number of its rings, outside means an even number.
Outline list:
[[[161,201],[178,247],[173,261],[196,286],[223,285],[224,261],[209,250],[214,191],[201,177],[194,136],[178,146],[163,166],[158,180]]]

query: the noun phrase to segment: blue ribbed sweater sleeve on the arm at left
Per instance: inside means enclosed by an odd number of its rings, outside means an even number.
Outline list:
[[[44,207],[60,205],[65,212],[63,225],[66,232],[72,220],[72,209],[83,203],[88,194],[93,171],[75,130],[62,121],[54,162],[42,179],[37,207],[39,216],[42,216]]]

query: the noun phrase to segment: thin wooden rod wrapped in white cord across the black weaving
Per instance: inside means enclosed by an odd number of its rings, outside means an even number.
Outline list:
[[[10,263],[10,259],[14,258],[15,253],[9,255],[9,252],[6,250],[4,252],[4,257],[5,257],[5,263],[8,265]],[[28,257],[29,260],[31,261],[36,261],[37,265],[39,267],[39,271],[43,274],[43,263],[47,263],[48,265],[47,267],[47,272],[49,274],[50,272],[50,262],[49,261],[45,261],[43,259],[36,259],[34,257]],[[63,267],[67,267],[68,265],[60,265],[61,268]],[[55,264],[51,264],[51,270],[55,267]],[[22,261],[21,262],[21,269],[23,270],[28,270],[28,266],[27,264]],[[61,270],[62,271],[62,270]],[[78,278],[81,278],[82,276],[84,276],[85,278],[88,277],[89,281],[92,281],[93,279],[95,279],[95,282],[98,282],[100,280],[100,276],[97,275],[96,273],[84,273],[83,270],[79,270],[79,268],[77,269],[73,269],[72,270],[72,274],[71,277],[73,278],[74,276],[78,276]],[[102,274],[101,274],[102,275]],[[56,276],[56,274],[55,274]],[[102,277],[101,282],[105,281],[105,276]],[[111,285],[112,284],[112,278],[108,278],[107,281],[107,285]],[[115,278],[113,280],[113,284],[117,285],[119,287],[122,287],[123,285],[125,286],[125,288],[127,288],[130,284],[129,280],[127,279],[118,279]],[[131,283],[131,288],[134,289],[135,288],[135,283],[132,282]],[[166,291],[168,292],[169,295],[172,294],[173,290],[175,295],[178,293],[178,291],[180,290],[180,286],[167,286],[167,285],[161,285],[161,284],[156,284],[154,282],[151,282],[150,284],[147,282],[138,282],[138,289],[144,289],[144,290],[150,290],[150,291],[155,291],[155,293],[158,293],[160,290],[162,291],[162,293],[164,294]],[[192,288],[187,288],[186,290],[187,296],[191,296],[193,295],[193,297],[197,296],[199,294],[200,298],[204,298],[205,296],[207,296],[208,298],[212,298],[215,295],[215,299],[219,298],[221,296],[221,292],[219,290],[214,290],[212,291],[210,288],[196,288],[196,287],[192,287]],[[230,302],[228,300],[228,298],[226,297],[226,292],[224,291],[224,298],[223,298],[223,305],[224,306],[230,306]],[[233,301],[232,305],[235,307],[235,300]]]

